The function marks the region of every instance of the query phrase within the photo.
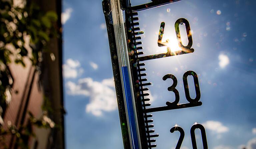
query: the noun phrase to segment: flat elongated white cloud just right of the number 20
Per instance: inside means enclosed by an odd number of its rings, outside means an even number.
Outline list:
[[[228,132],[229,128],[224,126],[221,122],[219,121],[213,121],[213,120],[209,120],[206,121],[202,124],[206,129],[212,130],[216,133],[224,133],[224,132]]]

